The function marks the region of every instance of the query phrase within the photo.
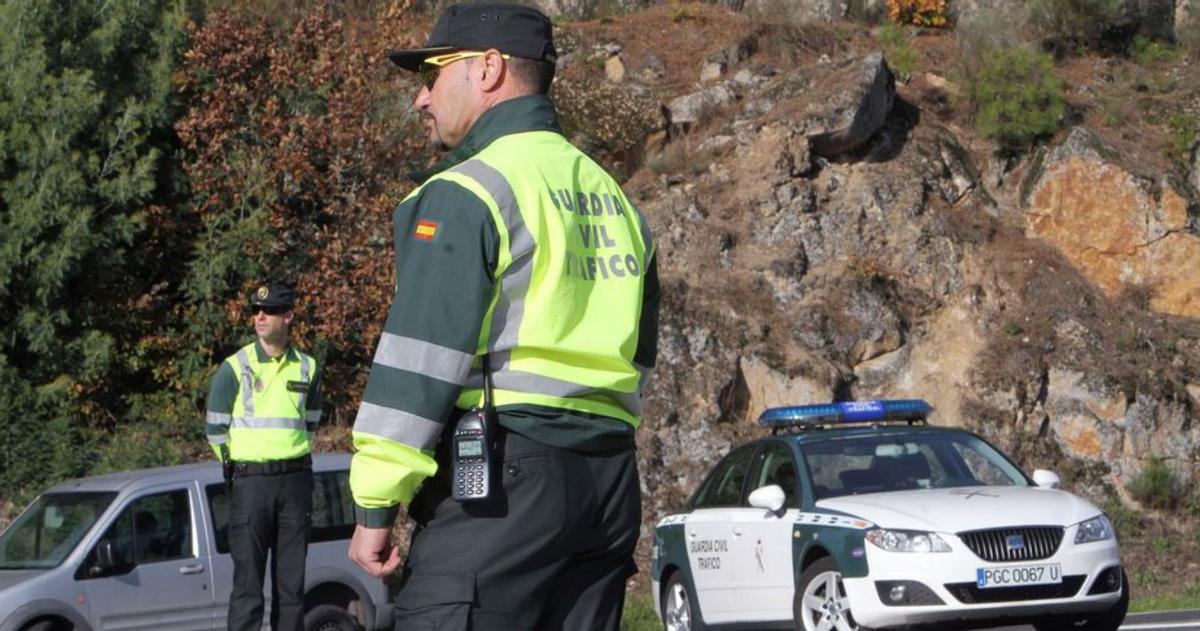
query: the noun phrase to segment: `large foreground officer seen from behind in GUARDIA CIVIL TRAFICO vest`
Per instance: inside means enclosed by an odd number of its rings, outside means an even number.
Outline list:
[[[616,630],[636,572],[654,245],[563,137],[551,30],[530,7],[452,5],[426,47],[390,53],[451,149],[392,216],[396,293],[354,422],[350,557],[403,566],[398,630]]]

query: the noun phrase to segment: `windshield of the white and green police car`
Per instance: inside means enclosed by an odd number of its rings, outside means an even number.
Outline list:
[[[991,445],[968,433],[824,440],[802,447],[816,499],[965,486],[1028,486]]]

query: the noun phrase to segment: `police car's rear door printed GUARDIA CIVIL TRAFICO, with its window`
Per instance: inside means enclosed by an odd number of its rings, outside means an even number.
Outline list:
[[[692,503],[684,533],[700,611],[708,624],[737,619],[733,531],[744,510],[745,480],[756,445],[734,450],[713,469]]]

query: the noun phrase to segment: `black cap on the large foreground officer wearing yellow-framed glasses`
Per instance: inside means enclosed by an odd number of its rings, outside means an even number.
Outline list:
[[[458,50],[487,50],[554,61],[550,18],[536,8],[497,2],[450,5],[442,12],[424,48],[389,50],[392,64],[416,72],[426,59]]]

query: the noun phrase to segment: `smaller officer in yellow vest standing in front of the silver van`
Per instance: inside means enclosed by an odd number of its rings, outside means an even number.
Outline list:
[[[256,341],[227,357],[209,390],[209,443],[226,467],[233,594],[228,629],[263,621],[271,558],[271,629],[304,629],[304,575],[312,523],[313,433],[320,368],[289,341],[293,292],[266,283],[250,296]]]

